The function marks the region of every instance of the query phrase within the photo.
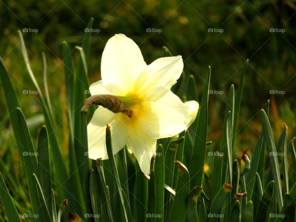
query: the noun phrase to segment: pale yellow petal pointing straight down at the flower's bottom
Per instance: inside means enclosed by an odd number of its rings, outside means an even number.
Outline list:
[[[127,148],[134,153],[144,174],[150,174],[151,157],[156,151],[156,139],[152,139],[138,126],[129,125]]]

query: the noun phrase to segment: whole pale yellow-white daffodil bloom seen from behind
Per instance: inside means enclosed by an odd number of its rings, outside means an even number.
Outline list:
[[[89,90],[92,95],[120,98],[132,115],[99,106],[87,128],[89,158],[108,159],[105,130],[109,124],[113,153],[126,145],[143,173],[150,174],[156,140],[186,129],[187,108],[170,90],[182,70],[181,56],[159,58],[146,65],[133,40],[123,34],[109,39],[102,55],[102,80],[93,83]]]

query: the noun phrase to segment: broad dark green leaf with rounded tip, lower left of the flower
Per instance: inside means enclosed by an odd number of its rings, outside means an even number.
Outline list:
[[[52,207],[51,170],[50,170],[48,135],[47,135],[47,129],[45,126],[43,126],[40,130],[37,150],[38,150],[38,169],[39,169],[40,186],[42,189],[42,194],[44,195],[44,199],[45,199],[46,206],[48,208],[49,215],[51,215],[51,212],[53,211],[53,209],[51,208]],[[35,179],[38,180],[37,178]],[[39,183],[39,181],[37,183]]]

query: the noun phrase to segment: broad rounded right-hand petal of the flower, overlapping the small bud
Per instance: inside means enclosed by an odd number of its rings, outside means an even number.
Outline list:
[[[141,111],[143,118],[138,124],[154,139],[175,136],[186,129],[188,111],[171,90],[157,101],[144,102]]]

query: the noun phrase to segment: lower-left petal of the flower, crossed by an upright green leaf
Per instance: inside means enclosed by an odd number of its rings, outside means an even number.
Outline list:
[[[113,113],[103,107],[98,107],[87,126],[88,156],[91,159],[108,159],[106,150],[106,124],[111,127],[113,154],[121,150],[127,141],[126,117],[122,113]]]

